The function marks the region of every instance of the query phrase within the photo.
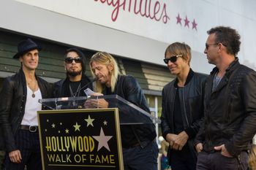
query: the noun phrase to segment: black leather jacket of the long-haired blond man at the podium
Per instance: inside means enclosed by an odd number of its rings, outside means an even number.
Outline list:
[[[140,85],[138,84],[137,80],[130,75],[119,75],[114,92],[111,93],[110,89],[105,89],[103,94],[117,94],[141,109],[144,109],[146,112],[149,112],[148,104],[146,103],[146,98],[143,95]],[[121,112],[121,109],[119,112]],[[142,142],[151,142],[156,138],[156,136],[157,134],[154,124],[121,125],[121,142],[122,147],[125,148],[132,147],[137,144],[142,146]]]

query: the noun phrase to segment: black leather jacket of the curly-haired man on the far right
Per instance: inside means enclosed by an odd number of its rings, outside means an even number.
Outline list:
[[[206,152],[225,144],[227,151],[237,156],[247,150],[256,133],[256,72],[236,58],[212,91],[217,72],[215,67],[206,82],[205,122],[197,134],[197,143],[203,143]]]

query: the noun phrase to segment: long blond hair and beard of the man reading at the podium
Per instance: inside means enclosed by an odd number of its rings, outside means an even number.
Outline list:
[[[110,85],[111,85],[111,91],[113,92],[116,87],[116,82],[119,74],[119,69],[118,65],[116,63],[116,60],[113,58],[112,55],[106,52],[97,52],[94,55],[92,55],[91,60],[90,60],[90,69],[91,69],[91,63],[96,62],[99,64],[103,64],[105,66],[112,66],[113,71],[110,72],[111,74],[111,80],[110,80]],[[91,69],[91,74],[93,77],[96,77],[94,72]],[[96,90],[98,93],[102,93],[103,88],[105,85],[100,84],[98,81],[94,83],[94,90]]]

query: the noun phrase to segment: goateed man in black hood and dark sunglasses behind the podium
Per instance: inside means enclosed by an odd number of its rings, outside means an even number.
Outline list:
[[[91,88],[91,81],[86,76],[86,57],[77,48],[69,48],[64,55],[64,68],[67,77],[54,83],[54,97],[86,96],[85,88]],[[76,105],[76,104],[73,104]]]

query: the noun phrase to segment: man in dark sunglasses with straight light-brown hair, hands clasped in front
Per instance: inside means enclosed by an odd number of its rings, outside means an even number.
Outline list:
[[[195,170],[194,139],[203,117],[203,89],[206,75],[193,72],[189,45],[174,42],[165,50],[164,62],[176,79],[162,90],[162,136],[170,144],[172,170]]]

